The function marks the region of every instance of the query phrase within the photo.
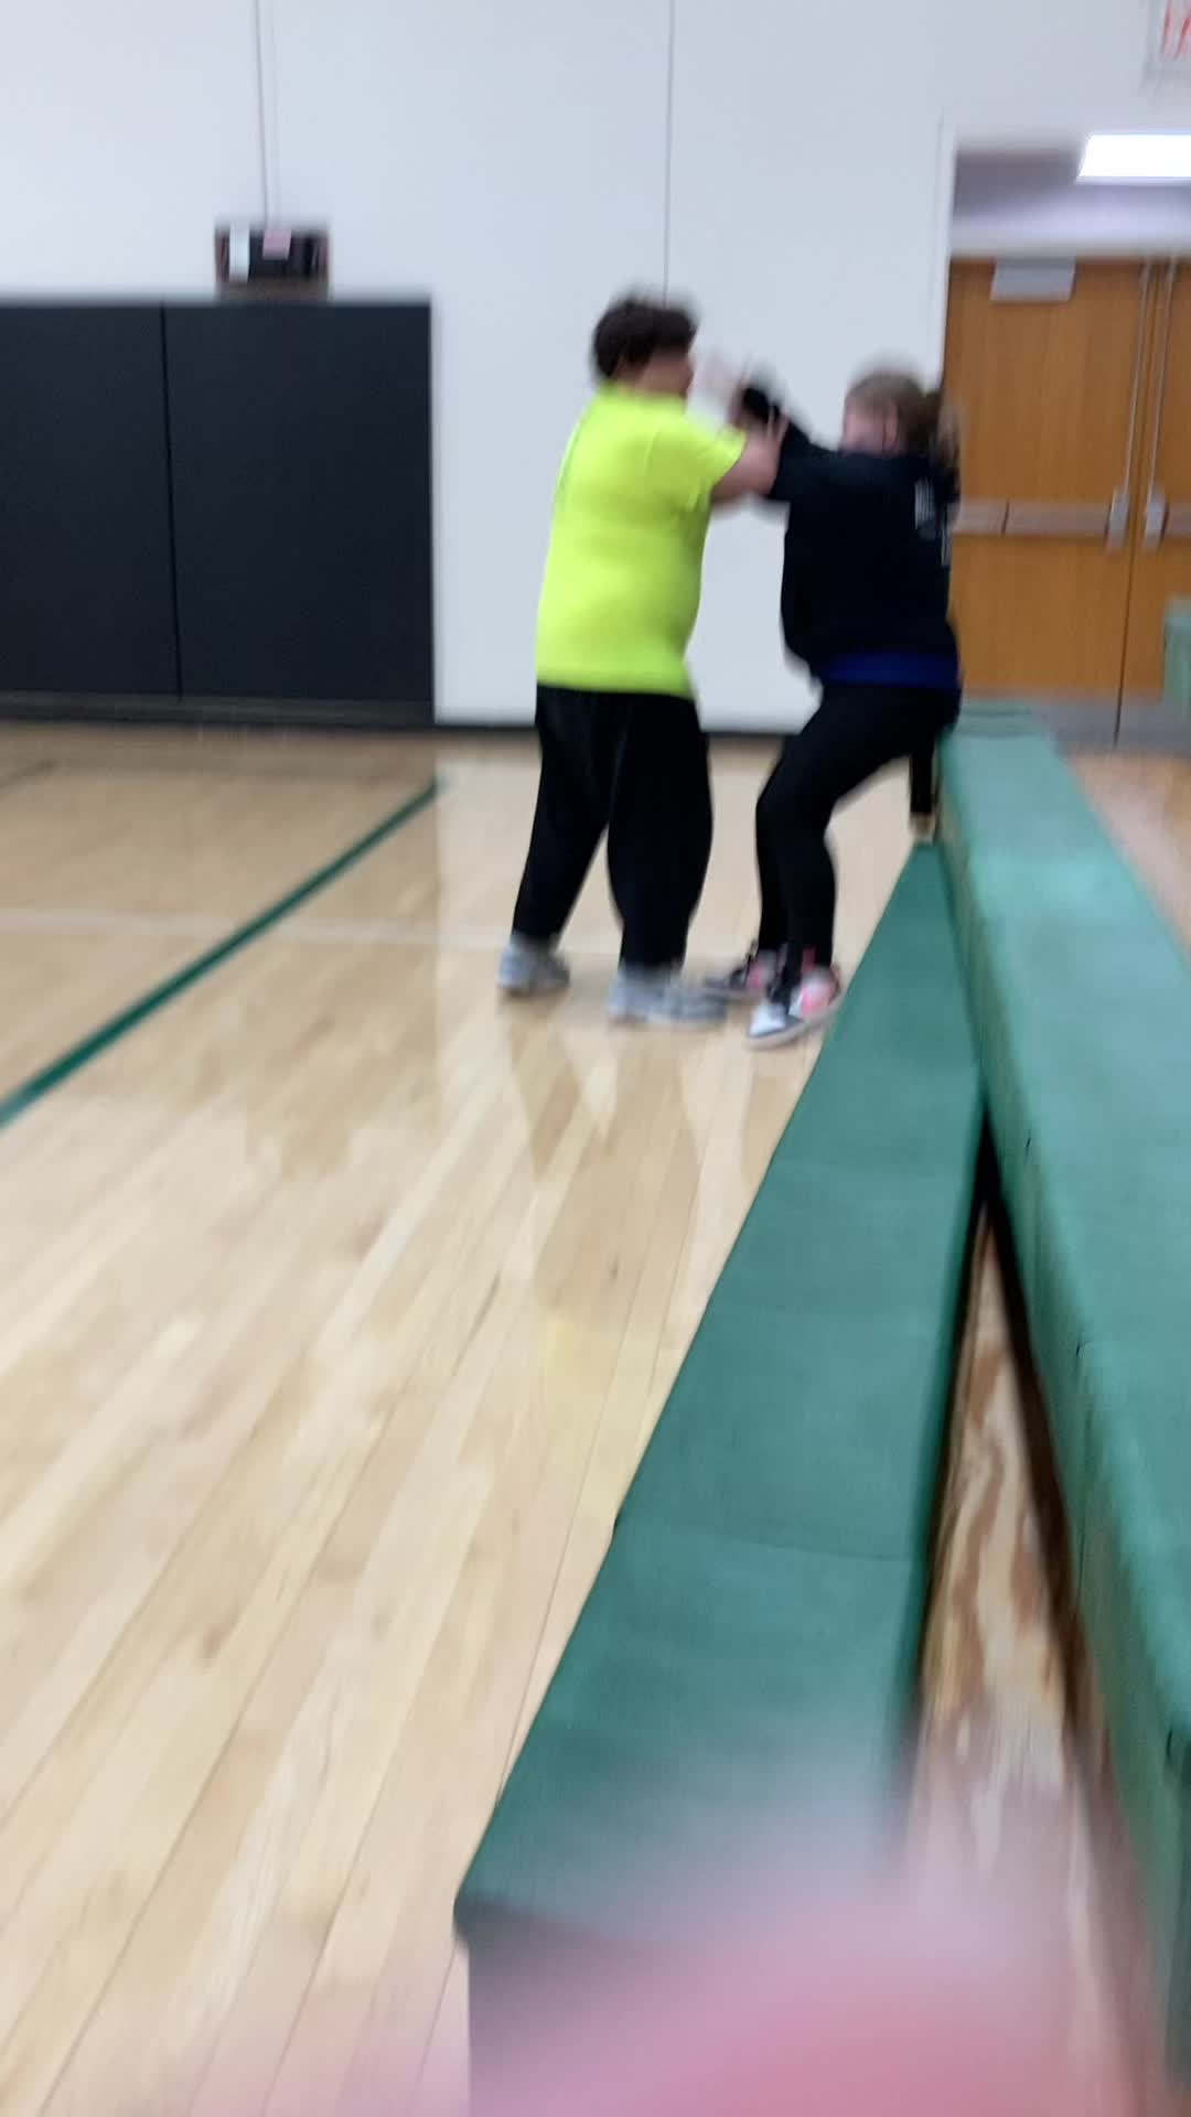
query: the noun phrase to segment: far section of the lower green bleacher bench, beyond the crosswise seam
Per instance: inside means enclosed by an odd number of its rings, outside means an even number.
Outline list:
[[[625,1520],[869,1558],[926,1552],[981,1124],[954,967],[939,860],[920,851],[712,1293]]]

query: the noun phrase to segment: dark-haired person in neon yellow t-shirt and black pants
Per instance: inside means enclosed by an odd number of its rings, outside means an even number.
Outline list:
[[[604,832],[623,925],[615,1020],[701,1025],[680,978],[712,847],[687,648],[712,506],[774,485],[780,432],[691,417],[695,322],[625,301],[596,326],[598,392],[566,453],[538,610],[538,807],[500,959],[515,997],[568,982],[557,940]]]

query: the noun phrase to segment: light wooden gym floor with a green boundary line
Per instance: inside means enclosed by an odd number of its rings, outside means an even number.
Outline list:
[[[718,754],[699,957],[763,764]],[[1191,931],[1191,766],[1085,775]],[[4,2117],[462,2075],[454,1886],[812,1063],[612,1035],[602,874],[574,993],[500,1008],[532,792],[519,743],[0,730]],[[901,777],[837,840],[852,967]],[[992,1241],[973,1317],[918,1827],[990,1865],[1049,1804],[1110,2013]]]

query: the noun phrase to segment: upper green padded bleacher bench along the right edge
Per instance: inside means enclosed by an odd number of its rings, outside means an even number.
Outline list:
[[[941,838],[1176,2073],[1191,2070],[1191,963],[1055,747],[960,730]]]

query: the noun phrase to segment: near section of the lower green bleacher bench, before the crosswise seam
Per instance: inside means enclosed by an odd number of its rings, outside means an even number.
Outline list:
[[[754,1825],[797,1757],[877,1812],[896,1780],[922,1609],[916,1560],[621,1528],[460,1897],[534,1931],[663,1939],[716,1827]],[[699,1869],[699,1880],[704,1880]]]

